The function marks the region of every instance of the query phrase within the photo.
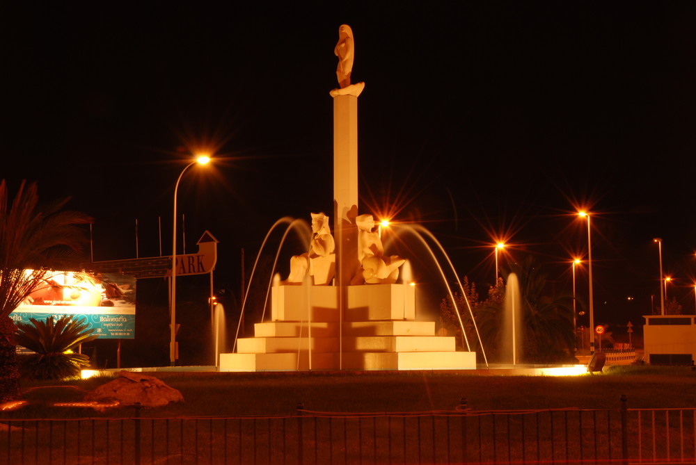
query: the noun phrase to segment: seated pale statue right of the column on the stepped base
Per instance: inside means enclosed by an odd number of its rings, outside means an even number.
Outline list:
[[[358,261],[360,268],[351,284],[394,284],[399,267],[406,260],[397,255],[385,256],[379,233],[374,232],[372,215],[358,215]]]

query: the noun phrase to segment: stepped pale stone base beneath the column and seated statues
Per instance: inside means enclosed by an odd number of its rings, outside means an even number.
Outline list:
[[[220,354],[220,371],[473,370],[475,352],[416,321],[413,286],[346,286],[340,323],[335,286],[276,286],[271,322],[254,325],[237,353]],[[311,323],[309,323],[311,322]],[[342,334],[342,336],[341,336]],[[310,360],[311,355],[311,360]]]

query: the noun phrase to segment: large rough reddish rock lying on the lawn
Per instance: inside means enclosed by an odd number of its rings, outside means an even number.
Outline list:
[[[183,402],[184,397],[156,377],[121,371],[116,380],[102,384],[85,396],[86,401],[118,400],[121,405],[164,407],[171,402]]]

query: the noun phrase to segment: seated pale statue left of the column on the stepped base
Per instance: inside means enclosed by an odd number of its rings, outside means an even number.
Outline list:
[[[286,281],[289,284],[301,284],[307,275],[313,277],[315,286],[331,284],[336,256],[333,253],[335,242],[329,229],[329,217],[324,213],[312,213],[312,232],[309,252],[290,259],[290,275]]]

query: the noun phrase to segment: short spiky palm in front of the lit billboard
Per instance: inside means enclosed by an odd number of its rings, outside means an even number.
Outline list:
[[[75,376],[81,366],[89,366],[89,357],[72,352],[78,345],[94,341],[94,329],[88,329],[86,319],[77,320],[64,315],[54,321],[29,318],[28,323],[17,323],[17,344],[34,353],[22,356],[22,366],[27,377],[35,380],[62,380]]]

